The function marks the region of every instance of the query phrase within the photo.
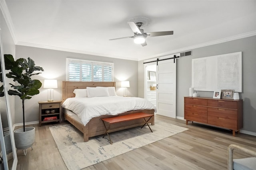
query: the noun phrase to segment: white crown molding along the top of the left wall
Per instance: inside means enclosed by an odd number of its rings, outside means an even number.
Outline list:
[[[17,38],[16,38],[16,34],[15,34],[15,29],[14,29],[14,25],[12,23],[12,18],[10,15],[10,12],[8,10],[7,4],[5,2],[5,0],[0,0],[0,8],[2,10],[2,14],[4,16],[4,19],[7,23],[7,26],[9,28],[9,31],[11,33],[12,39],[14,41],[14,43],[17,43]]]

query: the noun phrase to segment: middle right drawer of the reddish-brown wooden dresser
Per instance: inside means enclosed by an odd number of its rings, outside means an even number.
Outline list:
[[[237,119],[237,111],[230,109],[220,109],[208,107],[208,115],[227,119]]]

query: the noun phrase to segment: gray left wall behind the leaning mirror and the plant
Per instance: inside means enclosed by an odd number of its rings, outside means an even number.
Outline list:
[[[0,11],[0,28],[1,28],[1,35],[2,35],[2,43],[3,43],[2,48],[3,48],[4,54],[12,54],[15,57],[15,43],[8,29],[7,23],[3,17],[2,11]],[[6,84],[8,84],[8,87],[10,87],[9,85],[10,82],[11,82],[10,80],[6,79]],[[14,96],[9,96],[9,100],[10,100],[11,119],[12,119],[12,123],[14,124]],[[1,108],[0,112],[1,112],[2,124],[3,124],[3,128],[5,128],[5,127],[8,127],[5,96],[0,98],[0,108]]]

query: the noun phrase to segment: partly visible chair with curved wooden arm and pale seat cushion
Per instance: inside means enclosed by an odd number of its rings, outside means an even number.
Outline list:
[[[233,159],[233,150],[240,150],[253,157]],[[256,151],[240,147],[238,145],[228,146],[228,170],[256,170]]]

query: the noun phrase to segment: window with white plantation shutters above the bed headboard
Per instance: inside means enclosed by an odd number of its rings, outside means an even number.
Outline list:
[[[67,59],[67,81],[112,82],[114,79],[114,63]]]

